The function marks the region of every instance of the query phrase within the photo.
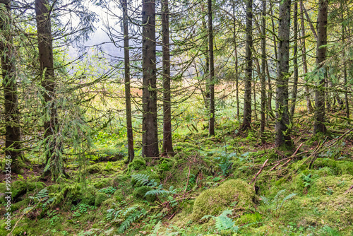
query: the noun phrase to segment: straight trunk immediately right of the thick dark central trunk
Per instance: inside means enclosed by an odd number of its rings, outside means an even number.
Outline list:
[[[162,0],[162,66],[163,66],[163,152],[174,155],[172,142],[172,107],[170,105],[169,6]]]

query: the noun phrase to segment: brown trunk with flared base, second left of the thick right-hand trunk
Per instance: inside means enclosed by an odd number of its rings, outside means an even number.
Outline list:
[[[251,125],[251,77],[253,72],[253,0],[246,1],[246,45],[245,45],[245,91],[244,91],[244,119],[241,130],[245,131]]]

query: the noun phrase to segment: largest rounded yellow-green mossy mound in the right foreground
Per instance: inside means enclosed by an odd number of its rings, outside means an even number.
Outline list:
[[[201,220],[203,216],[217,216],[232,203],[237,203],[236,211],[254,206],[255,191],[249,184],[239,179],[231,179],[215,189],[200,194],[193,205],[192,218]]]

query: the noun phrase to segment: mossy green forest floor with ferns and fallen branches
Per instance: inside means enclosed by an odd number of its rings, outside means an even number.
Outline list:
[[[104,129],[90,165],[66,160],[59,184],[31,159],[12,176],[12,235],[353,235],[352,130],[313,136],[297,125],[295,148],[281,151],[256,129],[220,122],[208,137],[189,126],[174,134],[174,157],[137,152],[129,165],[125,137]],[[3,195],[0,235],[5,206]]]

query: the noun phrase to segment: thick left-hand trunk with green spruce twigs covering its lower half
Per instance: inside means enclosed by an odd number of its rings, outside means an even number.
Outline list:
[[[56,136],[59,134],[58,114],[55,101],[55,78],[53,58],[52,25],[50,23],[52,5],[49,0],[35,0],[37,20],[40,78],[44,88],[44,112],[48,119],[44,121],[44,140],[47,166],[44,175],[51,173],[52,179],[64,175],[64,162],[60,155],[62,144]]]

